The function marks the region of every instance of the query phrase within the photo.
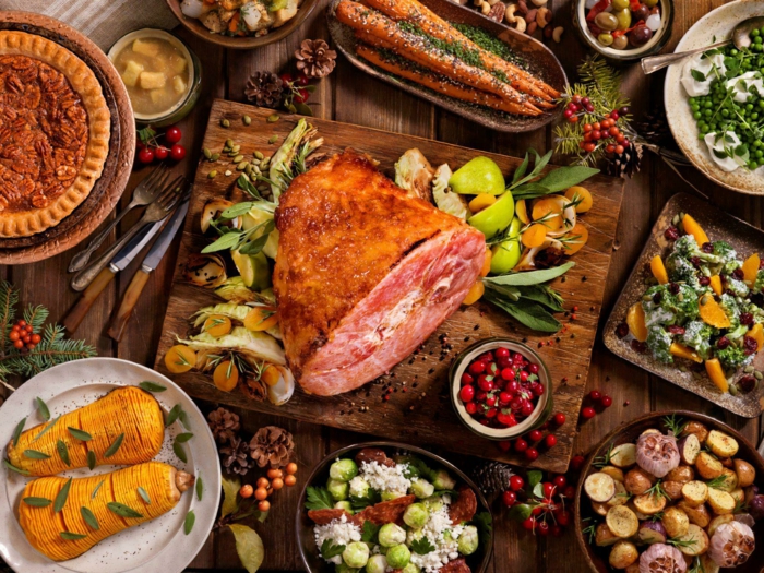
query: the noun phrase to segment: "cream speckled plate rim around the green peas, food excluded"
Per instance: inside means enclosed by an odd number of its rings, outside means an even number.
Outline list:
[[[735,26],[749,17],[764,16],[763,0],[737,0],[712,10],[688,31],[677,45],[677,52],[703,48],[730,37]],[[720,169],[708,153],[708,147],[697,139],[697,126],[692,117],[688,95],[680,82],[682,76],[682,60],[668,69],[664,87],[666,117],[673,139],[679,148],[708,179],[716,183],[752,195],[764,194],[764,176],[747,169],[727,172]]]

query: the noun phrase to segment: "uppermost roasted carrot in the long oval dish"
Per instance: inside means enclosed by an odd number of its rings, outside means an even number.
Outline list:
[[[381,11],[396,22],[402,20],[410,22],[438,39],[449,44],[459,44],[466,49],[477,51],[486,69],[504,73],[515,89],[545,100],[560,97],[558,91],[541,80],[534,77],[525,70],[481,48],[417,0],[365,0],[365,3]]]

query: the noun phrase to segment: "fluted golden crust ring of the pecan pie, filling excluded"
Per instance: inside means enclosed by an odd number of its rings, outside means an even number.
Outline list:
[[[0,32],[1,56],[26,56],[61,72],[87,111],[87,145],[73,182],[41,207],[0,211],[0,238],[27,237],[58,225],[91,193],[109,152],[110,118],[100,84],[93,71],[64,47],[41,36]],[[2,144],[0,143],[0,148]]]

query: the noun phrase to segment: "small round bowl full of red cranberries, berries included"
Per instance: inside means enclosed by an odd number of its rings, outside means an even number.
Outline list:
[[[509,338],[486,338],[451,366],[451,402],[464,425],[489,440],[509,440],[541,426],[552,409],[544,360]]]

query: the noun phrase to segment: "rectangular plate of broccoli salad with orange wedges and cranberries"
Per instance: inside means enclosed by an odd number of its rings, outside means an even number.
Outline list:
[[[664,207],[606,346],[747,418],[762,411],[764,232],[690,195]]]

